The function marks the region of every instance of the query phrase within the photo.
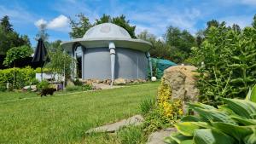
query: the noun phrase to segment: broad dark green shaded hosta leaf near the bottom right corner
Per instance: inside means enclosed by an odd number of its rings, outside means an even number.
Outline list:
[[[218,130],[221,130],[225,134],[236,138],[236,140],[240,142],[244,137],[253,133],[253,126],[238,126],[234,124],[225,124],[219,122],[212,122],[212,126]]]

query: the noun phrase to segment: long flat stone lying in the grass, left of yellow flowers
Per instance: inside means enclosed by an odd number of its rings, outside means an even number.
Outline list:
[[[132,116],[131,118],[123,119],[113,124],[106,124],[97,128],[87,130],[85,133],[87,134],[91,132],[113,133],[124,126],[143,124],[143,121],[144,121],[144,118],[141,115],[135,115],[135,116]]]

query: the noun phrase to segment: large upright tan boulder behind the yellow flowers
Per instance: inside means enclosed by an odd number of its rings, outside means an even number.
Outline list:
[[[195,66],[171,66],[164,72],[163,80],[172,88],[172,99],[197,101],[199,89],[195,87]]]

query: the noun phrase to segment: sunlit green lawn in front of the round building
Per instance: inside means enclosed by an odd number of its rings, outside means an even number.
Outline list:
[[[158,84],[43,98],[0,93],[0,143],[114,143],[113,136],[84,131],[138,113],[140,101],[154,97]]]

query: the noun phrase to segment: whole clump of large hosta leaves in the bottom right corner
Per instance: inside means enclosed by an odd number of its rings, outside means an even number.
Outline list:
[[[256,98],[256,87],[248,97]],[[255,143],[256,103],[248,100],[222,98],[218,108],[202,103],[190,103],[189,108],[198,116],[186,116],[182,123],[174,124],[177,133],[166,138],[168,143]]]

